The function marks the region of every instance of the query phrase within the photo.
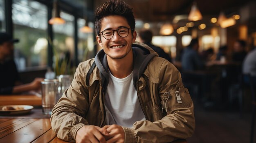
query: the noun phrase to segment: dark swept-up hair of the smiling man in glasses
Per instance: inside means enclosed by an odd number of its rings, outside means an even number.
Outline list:
[[[124,0],[108,0],[99,6],[95,12],[95,32],[99,35],[101,20],[109,15],[119,15],[126,18],[131,29],[135,29],[135,18],[132,8]]]

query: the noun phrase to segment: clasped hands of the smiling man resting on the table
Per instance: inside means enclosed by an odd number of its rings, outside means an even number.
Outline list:
[[[124,143],[124,129],[120,125],[105,125],[100,128],[86,125],[76,133],[76,143]]]

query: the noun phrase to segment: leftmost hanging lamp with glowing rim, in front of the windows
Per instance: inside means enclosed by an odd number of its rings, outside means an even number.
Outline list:
[[[57,0],[54,1],[53,5],[53,17],[49,20],[49,24],[64,24],[65,20],[63,20],[60,16],[60,9],[58,7]]]

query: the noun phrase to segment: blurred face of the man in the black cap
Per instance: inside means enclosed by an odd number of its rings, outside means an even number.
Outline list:
[[[4,42],[0,44],[0,54],[3,58],[10,57],[13,55],[13,43]]]

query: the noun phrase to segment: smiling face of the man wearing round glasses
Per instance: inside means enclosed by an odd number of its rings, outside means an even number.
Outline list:
[[[120,27],[130,29],[127,20],[122,16],[110,15],[104,17],[101,21],[101,32],[106,29],[116,30]],[[132,51],[132,43],[135,42],[136,36],[136,31],[132,33],[129,30],[129,34],[126,37],[119,36],[117,31],[115,31],[113,37],[109,40],[106,40],[102,33],[97,35],[97,41],[108,57],[111,59],[122,59]]]

